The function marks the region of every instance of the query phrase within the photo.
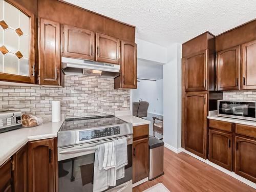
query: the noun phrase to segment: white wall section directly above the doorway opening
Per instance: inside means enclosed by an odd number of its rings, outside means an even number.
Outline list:
[[[153,44],[151,42],[136,38],[137,58],[166,63],[167,51],[166,48]]]

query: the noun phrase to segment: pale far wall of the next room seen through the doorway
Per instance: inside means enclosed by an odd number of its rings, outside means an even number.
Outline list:
[[[133,90],[133,102],[147,101],[150,103],[148,112],[163,115],[163,79],[157,81],[139,80],[137,89]]]

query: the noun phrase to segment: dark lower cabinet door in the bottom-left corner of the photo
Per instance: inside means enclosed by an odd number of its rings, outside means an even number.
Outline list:
[[[11,191],[12,180],[12,163],[11,159],[8,159],[3,165],[0,166],[0,191]]]

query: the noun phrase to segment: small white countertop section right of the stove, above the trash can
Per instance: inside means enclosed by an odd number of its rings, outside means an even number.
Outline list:
[[[131,115],[130,111],[121,111],[116,112],[115,116],[123,121],[132,123],[133,126],[143,125],[143,124],[150,124],[151,122],[139,117],[135,117]]]

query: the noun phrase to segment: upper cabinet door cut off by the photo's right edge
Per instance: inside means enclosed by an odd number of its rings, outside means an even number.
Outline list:
[[[256,40],[242,45],[242,89],[256,89]]]

